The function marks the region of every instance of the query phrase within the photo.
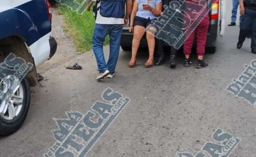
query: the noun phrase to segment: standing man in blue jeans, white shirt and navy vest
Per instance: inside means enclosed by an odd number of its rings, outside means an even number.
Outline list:
[[[97,60],[99,75],[112,78],[119,56],[123,24],[127,25],[132,12],[132,0],[100,0],[97,4],[97,18],[92,38],[92,49]],[[126,5],[126,8],[125,8]],[[125,12],[126,11],[126,12]],[[103,42],[109,36],[109,58],[106,63],[103,53]]]

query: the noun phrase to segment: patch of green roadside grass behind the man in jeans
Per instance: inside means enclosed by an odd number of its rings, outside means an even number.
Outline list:
[[[82,15],[72,11],[69,7],[59,5],[59,12],[64,16],[66,22],[65,31],[70,36],[76,47],[76,50],[84,53],[92,49],[92,35],[95,19],[91,12],[84,12]],[[105,45],[109,39],[105,41]]]

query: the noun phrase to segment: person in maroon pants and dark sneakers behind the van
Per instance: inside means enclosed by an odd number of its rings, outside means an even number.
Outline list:
[[[185,54],[185,62],[184,62],[184,66],[188,67],[190,62],[189,62],[189,57],[191,54],[191,49],[193,46],[193,42],[195,39],[195,36],[197,38],[197,56],[198,56],[198,61],[197,61],[197,66],[196,68],[203,68],[208,66],[208,64],[206,64],[203,61],[203,57],[205,54],[205,42],[206,42],[206,38],[207,38],[207,31],[209,28],[209,14],[207,14],[203,20],[197,25],[197,27],[195,28],[194,31],[191,32],[191,34],[189,35],[189,37],[186,39],[184,46],[183,46],[183,50],[184,50],[184,54]]]

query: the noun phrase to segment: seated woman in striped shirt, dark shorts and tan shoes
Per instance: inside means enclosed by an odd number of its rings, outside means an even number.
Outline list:
[[[149,5],[152,7],[150,11],[145,10],[143,6]],[[151,24],[151,21],[157,19],[152,12],[155,10],[161,11],[163,3],[161,0],[135,0],[133,4],[133,10],[130,19],[130,32],[133,32],[132,40],[132,56],[129,62],[129,67],[134,67],[136,64],[137,51],[140,46],[140,40],[146,32],[146,28]],[[150,67],[154,62],[154,50],[155,50],[155,36],[152,33],[146,32],[149,58],[145,64],[146,67]]]

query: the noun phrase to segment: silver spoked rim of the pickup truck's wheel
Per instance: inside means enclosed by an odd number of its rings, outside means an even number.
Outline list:
[[[0,116],[6,120],[12,120],[20,114],[22,109],[24,99],[23,87],[19,79],[14,75],[6,76],[0,82],[0,86],[4,89],[4,92],[7,90],[11,91],[7,92],[5,99],[0,103]]]

